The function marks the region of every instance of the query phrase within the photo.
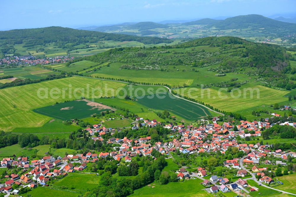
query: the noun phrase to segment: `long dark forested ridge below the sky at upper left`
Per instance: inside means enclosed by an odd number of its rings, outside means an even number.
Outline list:
[[[102,33],[97,31],[77,30],[63,27],[46,27],[35,29],[16,29],[0,31],[0,46],[5,44],[22,44],[26,46],[43,45],[56,42],[58,45],[72,43],[97,42],[100,40],[138,41],[145,44],[171,43],[166,38],[139,37],[134,35]]]

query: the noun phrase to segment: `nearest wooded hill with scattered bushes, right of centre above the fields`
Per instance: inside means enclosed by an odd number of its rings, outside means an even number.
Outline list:
[[[169,52],[170,48],[194,48],[197,46],[219,47],[217,53],[203,50],[188,50],[186,53]],[[159,54],[169,53],[162,56]],[[226,56],[223,54],[227,54]],[[204,57],[207,56],[205,59]],[[235,72],[243,67],[256,68],[254,75],[262,77],[284,77],[291,70],[289,54],[280,46],[254,43],[237,37],[206,37],[172,46],[152,48],[118,48],[85,57],[94,62],[121,62],[123,69],[166,70],[167,65],[205,67],[219,63],[218,73]],[[145,62],[143,64],[143,62]],[[130,65],[131,64],[131,65]]]

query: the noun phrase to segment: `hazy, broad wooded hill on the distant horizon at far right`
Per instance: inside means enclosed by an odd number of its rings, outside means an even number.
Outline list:
[[[275,35],[291,34],[296,32],[296,24],[273,20],[258,14],[249,14],[230,17],[207,25],[208,28],[215,27],[220,30],[251,28],[260,29],[265,33]]]

